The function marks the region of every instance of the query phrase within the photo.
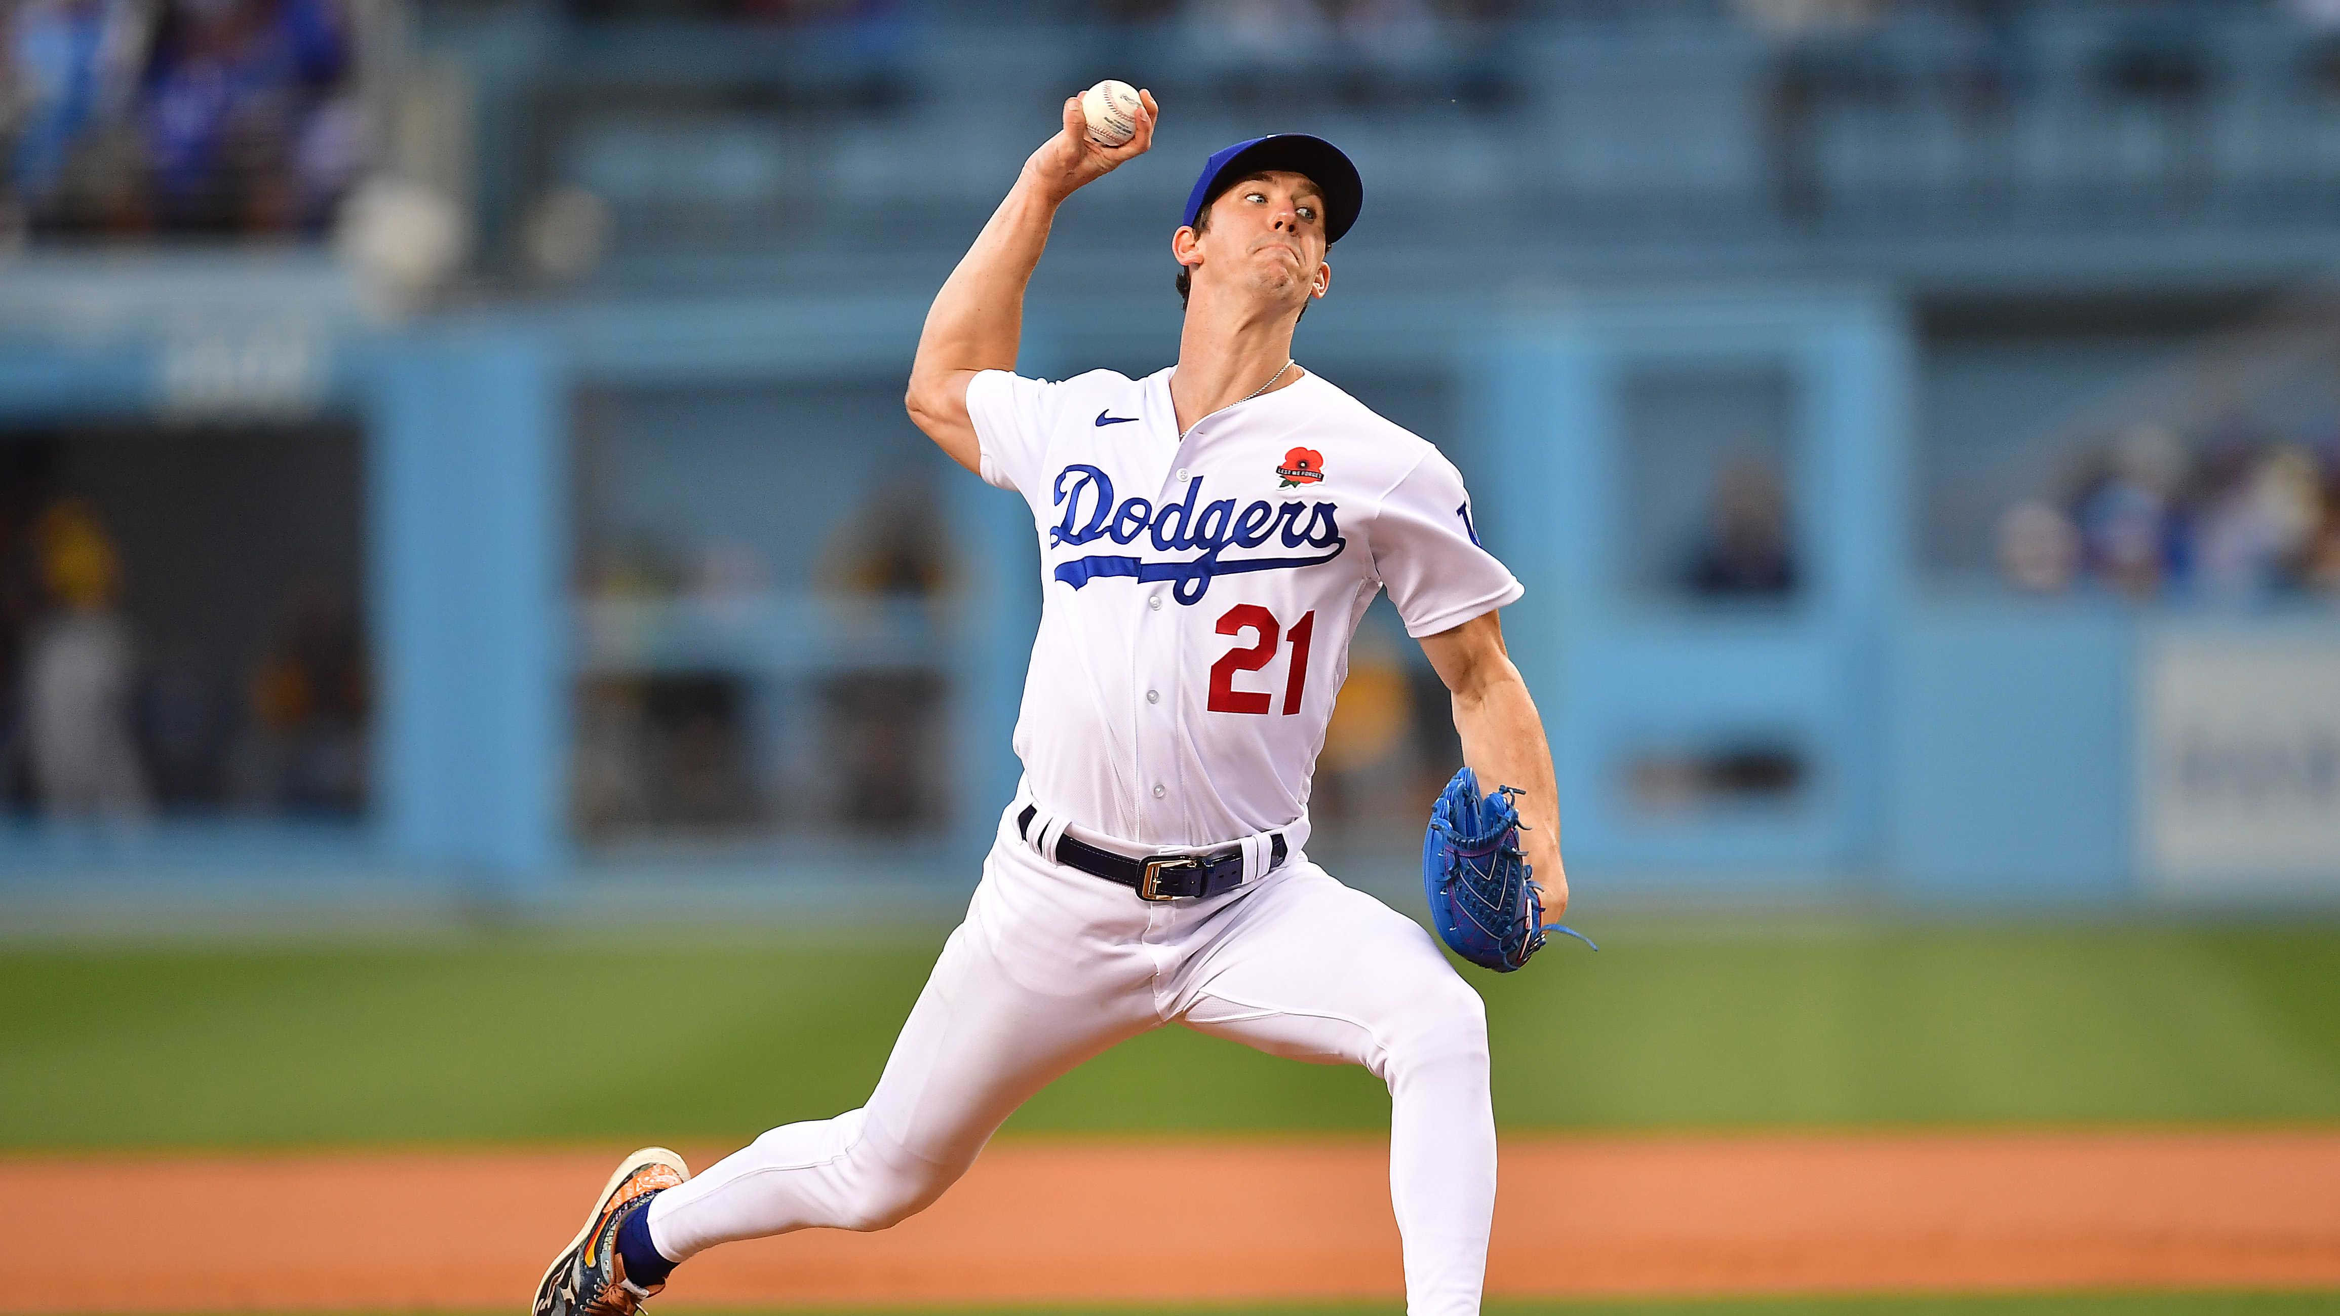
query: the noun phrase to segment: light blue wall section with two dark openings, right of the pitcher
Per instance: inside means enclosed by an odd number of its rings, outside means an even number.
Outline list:
[[[1907,328],[1874,293],[1603,297],[1507,325],[1484,382],[1505,457],[1488,534],[1530,588],[1521,670],[1554,724],[1570,862],[1668,880],[1811,883],[1877,857],[1881,632],[1907,510]],[[1626,562],[1631,370],[1771,368],[1792,396],[1785,475],[1802,583],[1694,602]],[[1783,745],[1792,798],[1650,813],[1636,756]]]

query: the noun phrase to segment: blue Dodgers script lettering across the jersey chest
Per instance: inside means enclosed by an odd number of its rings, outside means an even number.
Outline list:
[[[1055,506],[1065,508],[1065,520],[1048,527],[1048,548],[1058,543],[1135,543],[1147,536],[1161,553],[1200,548],[1196,557],[1182,562],[1147,562],[1142,557],[1095,555],[1055,564],[1055,578],[1074,590],[1097,576],[1133,576],[1137,581],[1177,581],[1170,597],[1182,604],[1198,602],[1210,590],[1212,576],[1236,576],[1243,571],[1282,571],[1285,567],[1315,567],[1331,562],[1348,548],[1341,539],[1341,522],[1334,520],[1336,503],[1257,503],[1236,510],[1236,499],[1196,503],[1203,496],[1203,478],[1186,482],[1186,496],[1177,503],[1154,506],[1147,499],[1114,501],[1114,480],[1095,466],[1065,466],[1055,478]],[[1306,518],[1306,522],[1301,520]],[[1322,548],[1313,557],[1224,557],[1228,548],[1259,548],[1266,541],[1285,548]]]

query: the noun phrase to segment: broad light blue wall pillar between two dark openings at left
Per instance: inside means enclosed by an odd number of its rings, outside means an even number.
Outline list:
[[[548,344],[379,344],[370,400],[384,845],[529,887],[566,857],[566,379]]]

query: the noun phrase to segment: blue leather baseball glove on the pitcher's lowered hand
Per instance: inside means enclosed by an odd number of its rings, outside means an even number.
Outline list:
[[[1544,948],[1544,932],[1565,932],[1594,946],[1582,932],[1544,923],[1544,887],[1535,885],[1519,850],[1516,787],[1479,794],[1470,768],[1446,782],[1430,806],[1423,836],[1423,892],[1430,923],[1455,955],[1498,974],[1528,962]],[[1594,946],[1598,951],[1601,946]]]

